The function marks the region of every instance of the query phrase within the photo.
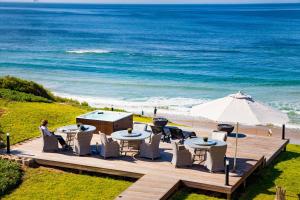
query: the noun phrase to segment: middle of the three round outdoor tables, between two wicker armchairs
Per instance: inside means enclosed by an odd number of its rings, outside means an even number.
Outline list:
[[[111,134],[111,137],[114,140],[119,140],[120,141],[120,151],[121,151],[121,153],[138,151],[138,150],[130,150],[130,144],[137,144],[137,146],[139,146],[139,144],[143,140],[149,138],[150,136],[151,136],[151,133],[148,132],[148,131],[137,131],[137,130],[132,130],[132,133],[128,133],[128,130],[121,130],[121,131],[113,132]],[[124,151],[125,147],[128,147],[129,150]]]

